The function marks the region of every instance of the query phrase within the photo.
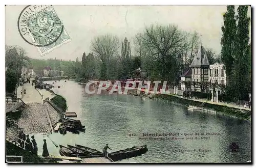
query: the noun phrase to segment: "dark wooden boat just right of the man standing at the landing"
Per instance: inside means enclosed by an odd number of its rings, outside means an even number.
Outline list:
[[[147,152],[147,147],[146,147],[146,145],[143,145],[143,146],[134,146],[132,148],[127,148],[124,150],[112,152],[112,153],[109,153],[108,156],[112,160],[117,161],[117,160],[121,160],[121,159],[139,156],[146,152]]]

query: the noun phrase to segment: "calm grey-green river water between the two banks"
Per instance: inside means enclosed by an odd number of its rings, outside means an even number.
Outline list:
[[[52,83],[52,81],[45,82]],[[64,146],[79,144],[101,151],[102,145],[108,143],[112,149],[109,152],[147,145],[147,153],[119,162],[251,160],[250,122],[200,112],[191,113],[184,106],[160,100],[142,100],[131,95],[108,93],[88,95],[84,91],[84,86],[69,80],[58,81],[54,86],[53,91],[66,98],[68,111],[75,111],[76,119],[86,125],[86,131],[79,134],[71,132],[67,132],[66,135],[51,134],[50,138],[56,144]],[[159,133],[158,135],[164,133],[166,136],[158,136],[159,139],[154,139],[157,136],[147,136],[145,139],[143,133]],[[170,133],[176,133],[176,136]],[[206,135],[206,133],[214,133],[214,135]],[[40,138],[39,135],[37,137]],[[184,139],[172,139],[172,137]],[[228,146],[232,142],[238,143],[239,152],[230,152]],[[54,147],[49,139],[47,144],[50,154],[57,155],[59,148]],[[40,152],[39,148],[38,153]]]

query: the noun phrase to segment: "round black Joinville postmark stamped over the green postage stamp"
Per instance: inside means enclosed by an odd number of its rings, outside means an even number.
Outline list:
[[[37,47],[55,43],[63,29],[64,26],[51,5],[29,5],[18,17],[20,36],[27,43]]]

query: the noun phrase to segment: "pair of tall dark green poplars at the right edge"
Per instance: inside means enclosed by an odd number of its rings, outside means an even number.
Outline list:
[[[223,15],[221,59],[227,75],[226,92],[230,99],[247,100],[251,92],[251,53],[249,44],[250,18],[248,6],[239,6],[235,15],[234,6],[227,6]]]

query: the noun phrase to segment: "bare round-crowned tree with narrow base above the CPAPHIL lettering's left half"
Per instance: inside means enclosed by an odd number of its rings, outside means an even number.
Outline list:
[[[110,60],[117,55],[119,48],[118,38],[110,34],[98,36],[91,42],[91,47],[94,55],[101,61],[100,78],[109,78]]]

